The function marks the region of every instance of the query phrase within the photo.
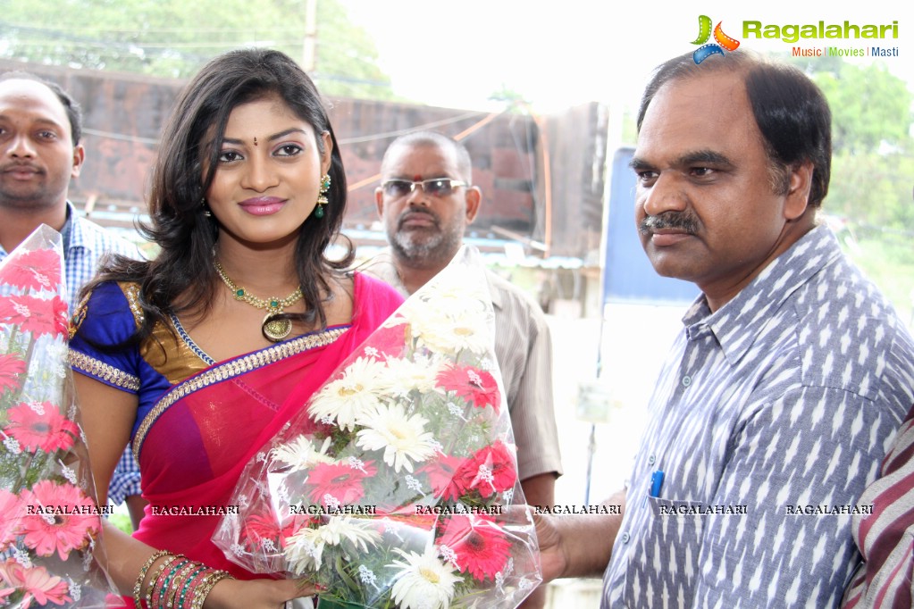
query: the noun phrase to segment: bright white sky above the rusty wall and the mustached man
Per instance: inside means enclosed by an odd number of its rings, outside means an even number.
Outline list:
[[[654,66],[694,50],[698,16],[707,15],[743,48],[787,57],[793,46],[898,47],[884,61],[914,90],[914,8],[910,3],[824,3],[766,0],[746,5],[594,0],[342,0],[356,24],[374,37],[393,89],[434,106],[489,109],[504,85],[549,113],[588,101],[618,108],[637,104]],[[902,6],[904,5],[904,6]],[[892,24],[886,40],[781,40],[743,37],[744,21],[767,25]],[[865,58],[863,61],[872,61]]]

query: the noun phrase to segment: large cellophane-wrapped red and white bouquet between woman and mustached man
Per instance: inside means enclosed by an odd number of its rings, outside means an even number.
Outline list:
[[[319,606],[513,607],[541,581],[479,254],[462,248],[249,464],[214,536]],[[347,603],[347,604],[346,604]]]

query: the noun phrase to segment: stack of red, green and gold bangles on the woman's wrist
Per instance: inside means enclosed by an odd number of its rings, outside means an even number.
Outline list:
[[[143,587],[146,574],[160,558],[165,560],[159,563],[149,576],[149,583]],[[140,569],[133,584],[133,602],[136,609],[143,609],[141,600],[146,601],[148,609],[203,609],[209,592],[227,578],[232,579],[227,571],[211,569],[202,562],[187,559],[184,554],[157,551]]]

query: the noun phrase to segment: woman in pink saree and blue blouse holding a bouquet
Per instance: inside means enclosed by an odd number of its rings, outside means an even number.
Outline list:
[[[210,538],[243,467],[401,299],[346,270],[351,247],[325,255],[343,165],[282,53],[233,51],[188,84],[149,206],[160,253],[114,260],[71,330],[97,488],[130,442],[149,501],[133,538],[106,527],[108,568],[138,607],[280,607],[314,588],[245,572]]]

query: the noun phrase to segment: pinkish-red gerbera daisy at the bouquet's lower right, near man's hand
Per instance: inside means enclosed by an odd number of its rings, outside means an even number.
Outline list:
[[[494,521],[482,515],[453,516],[438,540],[445,559],[482,582],[505,569],[511,541]]]

